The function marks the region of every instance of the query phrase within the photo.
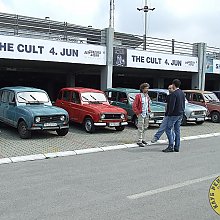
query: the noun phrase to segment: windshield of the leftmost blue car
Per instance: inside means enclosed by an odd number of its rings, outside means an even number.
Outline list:
[[[19,92],[17,100],[20,103],[48,103],[49,98],[45,92]]]

